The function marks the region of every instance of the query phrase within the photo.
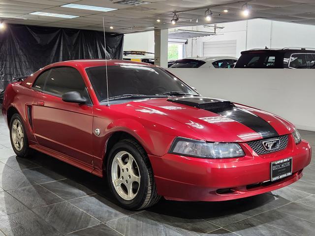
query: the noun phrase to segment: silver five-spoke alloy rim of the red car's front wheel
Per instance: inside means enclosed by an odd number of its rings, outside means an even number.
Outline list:
[[[127,159],[124,160],[124,159]],[[138,169],[134,170],[134,167]],[[119,151],[112,161],[111,168],[112,184],[117,194],[124,200],[134,199],[140,189],[141,176],[138,163],[127,151]]]

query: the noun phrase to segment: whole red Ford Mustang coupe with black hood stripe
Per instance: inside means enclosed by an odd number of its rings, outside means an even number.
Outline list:
[[[32,148],[107,177],[128,209],[161,196],[265,193],[297,181],[311,161],[309,143],[283,118],[203,97],[140,62],[108,60],[107,70],[97,59],[48,65],[8,86],[2,113],[18,156]]]

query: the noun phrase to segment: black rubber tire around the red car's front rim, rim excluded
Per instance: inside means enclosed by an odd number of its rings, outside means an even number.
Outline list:
[[[116,192],[116,189],[112,183],[112,175],[111,175],[112,163],[113,163],[113,159],[115,155],[120,151],[127,151],[133,156],[133,158],[138,164],[139,173],[141,176],[139,192],[137,196],[132,200],[125,200],[122,197],[120,197],[119,194]],[[110,186],[112,193],[118,200],[118,202],[127,209],[135,210],[135,209],[140,208],[142,204],[144,203],[146,196],[148,194],[149,174],[148,174],[148,169],[143,158],[145,157],[142,156],[138,148],[136,148],[132,143],[125,140],[120,141],[116,145],[114,145],[114,147],[111,149],[109,153],[109,158],[107,160],[107,165],[106,165],[108,184]]]

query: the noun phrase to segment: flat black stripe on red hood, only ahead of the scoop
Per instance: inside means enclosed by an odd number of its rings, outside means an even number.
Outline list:
[[[275,128],[272,127],[272,125],[266,120],[238,107],[234,107],[232,110],[225,110],[216,113],[246,125],[255,132],[260,133],[264,139],[279,136]]]

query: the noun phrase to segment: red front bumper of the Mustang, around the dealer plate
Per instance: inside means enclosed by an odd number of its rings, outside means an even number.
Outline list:
[[[284,150],[257,155],[247,144],[240,144],[245,156],[229,159],[203,159],[167,153],[149,155],[158,194],[178,201],[225,201],[273,191],[302,177],[311,161],[308,142],[295,145],[289,135]],[[292,157],[292,175],[270,181],[270,162]]]

